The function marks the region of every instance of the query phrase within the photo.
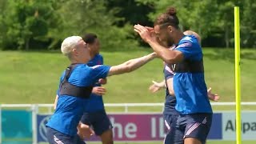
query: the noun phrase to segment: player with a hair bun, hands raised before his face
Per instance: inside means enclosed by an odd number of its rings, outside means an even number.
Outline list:
[[[176,10],[171,7],[155,20],[153,33],[141,25],[135,25],[134,30],[174,70],[175,109],[179,116],[173,143],[202,144],[210,131],[213,113],[207,97],[202,48],[197,38],[184,35],[178,25]],[[168,50],[158,41],[175,48]]]

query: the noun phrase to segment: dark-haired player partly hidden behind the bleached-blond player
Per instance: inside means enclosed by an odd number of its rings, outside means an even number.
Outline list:
[[[88,44],[88,49],[90,51],[91,59],[90,62],[87,63],[87,66],[103,65],[103,57],[99,54],[100,42],[97,35],[85,34],[82,39]],[[82,115],[82,123],[80,127],[87,127],[88,129],[88,126],[92,126],[95,134],[102,139],[103,144],[112,144],[113,126],[106,115],[102,99],[102,94],[105,94],[106,90],[101,84],[106,84],[106,78],[101,78],[95,83],[92,94],[90,94],[90,102],[88,103],[86,112]],[[88,130],[84,130],[84,133],[88,134]],[[80,129],[79,132],[81,133],[79,135],[84,138],[85,135],[82,135],[83,130]]]

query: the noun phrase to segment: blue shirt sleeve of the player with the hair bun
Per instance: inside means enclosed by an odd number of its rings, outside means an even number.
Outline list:
[[[193,42],[190,41],[181,42],[175,50],[181,51],[186,59],[193,59],[197,54],[201,53],[201,48],[199,46],[193,46]]]

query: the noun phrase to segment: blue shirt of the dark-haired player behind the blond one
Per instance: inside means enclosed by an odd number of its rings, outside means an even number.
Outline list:
[[[96,66],[96,65],[103,65],[103,57],[101,54],[95,55],[94,58],[87,63],[87,66]],[[101,86],[101,84],[96,82],[94,86]],[[102,95],[93,94],[93,93],[90,94],[90,102],[87,105],[86,112],[95,112],[100,110],[104,110]]]

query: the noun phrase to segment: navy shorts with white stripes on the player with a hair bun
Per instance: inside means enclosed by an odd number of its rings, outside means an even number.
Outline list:
[[[182,134],[183,138],[197,138],[204,144],[210,131],[211,122],[212,114],[180,114],[177,119],[175,135]],[[182,142],[179,140],[174,143]]]

